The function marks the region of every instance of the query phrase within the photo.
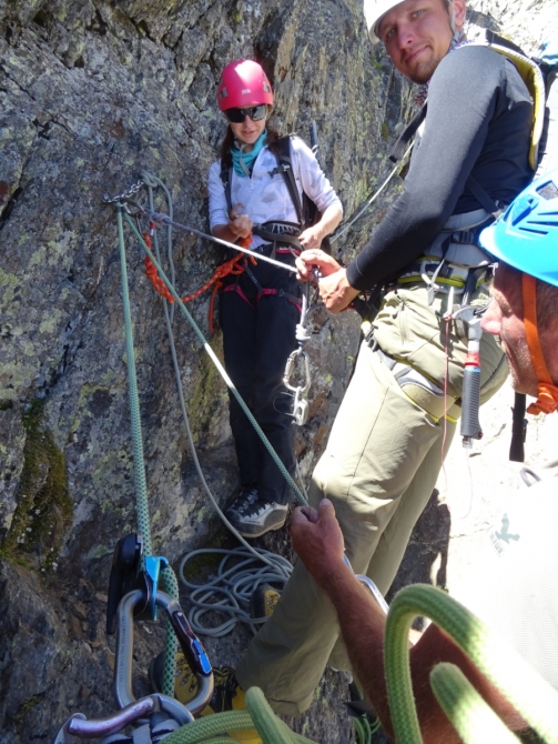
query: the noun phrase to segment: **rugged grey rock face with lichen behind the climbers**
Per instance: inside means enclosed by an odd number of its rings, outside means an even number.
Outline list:
[[[556,3],[531,4],[528,18],[548,24],[548,8]],[[474,20],[498,26],[486,9]],[[537,28],[524,22],[528,41]],[[53,741],[71,713],[114,708],[103,613],[114,543],[136,515],[116,222],[102,195],[145,170],[169,188],[180,222],[206,230],[206,174],[224,134],[214,91],[223,66],[241,57],[264,64],[278,129],[304,134],[317,121],[322,163],[353,214],[379,183],[387,140],[409,110],[408,87],[367,40],[361,3],[0,0],[2,743]],[[335,253],[349,259],[388,202]],[[189,451],[162,300],[129,230],[126,249],[153,553],[174,563],[219,522]],[[181,294],[223,258],[179,231],[173,255]],[[207,334],[207,295],[190,308]],[[173,329],[193,439],[224,503],[236,483],[226,391],[180,313]],[[313,330],[311,419],[297,445],[304,475],[341,403],[358,320],[316,313]],[[219,330],[212,344],[219,353]],[[161,630],[140,623],[136,635],[141,695]],[[245,641],[230,641],[227,661]],[[346,684],[328,673],[297,728],[348,741],[345,697]]]

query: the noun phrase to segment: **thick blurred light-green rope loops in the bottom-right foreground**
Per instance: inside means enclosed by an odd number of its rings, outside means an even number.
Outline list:
[[[410,682],[408,632],[416,616],[432,619],[500,691],[547,744],[558,744],[558,692],[469,610],[435,586],[415,584],[392,602],[385,634],[385,675],[395,738],[422,744]],[[456,673],[457,672],[457,673]],[[466,744],[518,742],[453,664],[430,675],[444,712]],[[483,716],[483,717],[480,717]]]

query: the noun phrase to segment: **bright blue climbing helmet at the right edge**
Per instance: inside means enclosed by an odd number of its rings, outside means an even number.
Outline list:
[[[532,181],[480,233],[496,259],[558,286],[558,169]]]

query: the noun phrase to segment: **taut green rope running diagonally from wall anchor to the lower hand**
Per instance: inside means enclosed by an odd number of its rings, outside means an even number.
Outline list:
[[[119,214],[120,214],[120,213],[122,212],[122,205],[121,205],[121,204],[118,204],[118,208],[119,208]],[[205,336],[203,335],[203,333],[202,333],[202,331],[200,330],[200,328],[199,328],[197,323],[195,322],[195,320],[192,318],[192,315],[191,315],[190,312],[187,311],[185,304],[182,302],[182,300],[181,300],[179,293],[176,292],[176,290],[174,289],[173,284],[172,284],[172,283],[169,281],[169,279],[166,278],[166,274],[164,273],[163,269],[161,268],[161,264],[160,264],[159,261],[156,260],[155,255],[154,255],[154,254],[151,252],[151,250],[148,248],[148,245],[145,244],[145,241],[143,240],[143,237],[142,237],[141,233],[140,233],[140,231],[138,230],[138,228],[134,225],[134,223],[132,222],[132,220],[130,219],[130,217],[129,217],[125,212],[124,212],[124,218],[125,218],[125,220],[128,221],[130,228],[132,229],[132,232],[133,232],[134,235],[138,238],[138,241],[140,242],[140,245],[143,248],[143,250],[145,251],[145,253],[149,255],[149,258],[150,258],[151,261],[153,262],[155,269],[156,269],[158,272],[159,272],[159,275],[161,277],[161,279],[162,279],[163,282],[165,283],[168,290],[169,290],[169,291],[171,292],[171,294],[173,295],[173,298],[174,298],[174,300],[175,300],[177,306],[180,308],[182,314],[186,318],[186,320],[187,320],[187,322],[190,323],[190,325],[192,326],[194,333],[197,335],[197,338],[200,339],[201,343],[203,344],[203,348],[205,349],[205,351],[206,351],[206,353],[209,354],[210,359],[212,360],[212,362],[213,362],[213,363],[215,364],[215,366],[217,368],[217,370],[219,370],[221,376],[223,378],[223,380],[224,380],[225,383],[226,383],[226,386],[227,386],[229,390],[233,393],[233,395],[235,396],[235,399],[239,401],[239,405],[242,408],[242,410],[243,410],[244,413],[246,414],[246,416],[247,416],[250,423],[254,426],[254,429],[255,429],[255,431],[257,432],[257,435],[260,436],[260,439],[262,440],[262,442],[263,442],[265,449],[267,450],[267,452],[268,452],[270,455],[272,456],[273,461],[275,462],[275,464],[276,464],[277,467],[280,469],[280,471],[281,471],[283,477],[286,480],[286,482],[288,483],[288,486],[292,489],[293,493],[295,494],[296,500],[298,501],[298,504],[300,504],[300,505],[303,505],[303,506],[306,505],[306,503],[307,503],[307,502],[306,502],[306,499],[303,496],[301,490],[298,489],[298,486],[296,485],[296,483],[295,483],[294,480],[292,479],[290,472],[287,471],[287,469],[285,467],[285,465],[282,463],[280,456],[277,455],[277,453],[275,452],[275,450],[274,450],[273,446],[271,445],[270,440],[267,439],[267,436],[266,436],[266,435],[264,434],[264,432],[262,431],[262,428],[260,426],[260,424],[257,423],[257,421],[254,419],[254,415],[252,414],[252,411],[248,409],[248,406],[246,405],[246,403],[243,401],[241,394],[239,393],[239,391],[237,391],[236,388],[234,386],[233,381],[231,380],[231,378],[230,378],[229,374],[226,373],[225,368],[221,364],[221,362],[220,362],[219,358],[216,356],[215,352],[213,351],[213,349],[212,349],[212,348],[210,346],[210,344],[207,343],[207,340],[206,340]],[[119,238],[120,238],[120,231],[119,231]],[[122,235],[122,241],[123,241],[123,235]]]

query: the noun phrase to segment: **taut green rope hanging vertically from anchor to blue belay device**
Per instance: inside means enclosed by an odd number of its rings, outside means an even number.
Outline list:
[[[124,230],[122,223],[122,208],[116,205],[116,217],[119,227],[120,245],[120,269],[122,278],[122,305],[124,312],[124,330],[126,343],[128,362],[128,391],[130,399],[130,415],[132,421],[132,451],[133,451],[133,472],[138,511],[138,531],[143,539],[143,554],[152,555],[151,527],[149,519],[148,504],[148,484],[145,480],[145,460],[143,456],[143,436],[140,416],[140,396],[138,394],[138,379],[135,375],[135,352],[133,343],[132,314],[130,312],[130,294],[128,290],[128,269],[124,245]],[[143,560],[143,559],[142,559]],[[144,567],[144,565],[143,565]],[[176,576],[170,566],[165,566],[161,572],[164,587],[172,597],[179,599],[179,583]],[[166,622],[166,641],[164,652],[164,672],[163,672],[163,694],[174,694],[174,668],[179,642],[172,629],[171,623]]]

